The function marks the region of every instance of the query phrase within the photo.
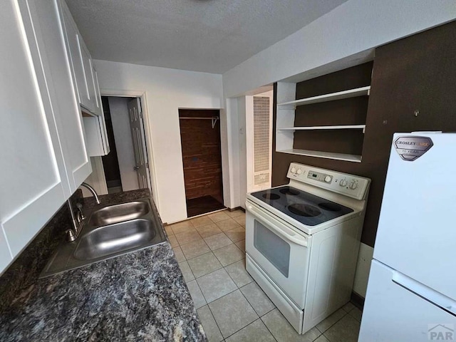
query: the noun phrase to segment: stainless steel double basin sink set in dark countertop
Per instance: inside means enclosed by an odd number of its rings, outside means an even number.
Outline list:
[[[61,243],[41,272],[41,277],[166,241],[160,219],[148,198],[99,205],[86,217],[87,222],[78,239]]]

